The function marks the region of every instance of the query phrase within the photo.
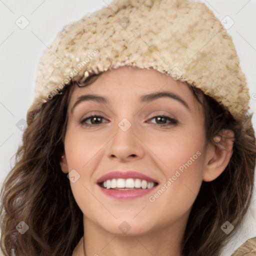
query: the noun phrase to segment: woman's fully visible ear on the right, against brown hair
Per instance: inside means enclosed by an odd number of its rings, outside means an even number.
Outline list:
[[[204,181],[214,180],[227,166],[233,153],[234,132],[222,129],[213,140],[215,144],[210,145],[206,152],[202,178]]]

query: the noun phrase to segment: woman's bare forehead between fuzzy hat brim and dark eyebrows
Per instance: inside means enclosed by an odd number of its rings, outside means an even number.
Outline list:
[[[91,77],[88,84],[85,83],[83,87],[75,83],[69,106],[83,94],[102,95],[111,102],[116,99],[119,100],[118,102],[122,100],[136,102],[141,95],[159,91],[177,94],[184,98],[190,107],[199,104],[190,85],[186,83],[174,80],[171,76],[155,69],[121,66]]]

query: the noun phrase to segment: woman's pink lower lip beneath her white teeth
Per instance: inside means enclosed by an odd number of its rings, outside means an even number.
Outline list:
[[[157,186],[157,185],[156,185]],[[132,200],[139,197],[142,197],[146,194],[149,194],[152,192],[152,190],[155,189],[156,186],[153,186],[151,188],[141,188],[141,189],[134,189],[134,190],[117,190],[117,189],[106,189],[101,186],[99,188],[101,191],[106,194],[107,196],[117,199],[117,200]]]

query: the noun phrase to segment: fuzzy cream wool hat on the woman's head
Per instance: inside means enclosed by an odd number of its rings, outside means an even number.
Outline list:
[[[226,22],[225,22],[226,23]],[[30,124],[42,104],[71,80],[129,65],[186,81],[246,121],[249,92],[231,36],[211,10],[189,0],[113,0],[65,25],[40,57]]]

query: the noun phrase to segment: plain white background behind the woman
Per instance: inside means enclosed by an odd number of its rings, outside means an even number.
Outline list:
[[[240,57],[250,89],[250,107],[256,112],[256,0],[201,0],[219,20],[227,15],[234,21],[228,29]],[[0,184],[10,169],[22,131],[22,124],[33,98],[35,71],[42,51],[57,32],[88,12],[106,6],[111,0],[0,0]],[[16,25],[23,15],[29,24]],[[24,19],[23,19],[24,20]],[[23,21],[24,24],[24,21]],[[148,24],[150,25],[150,24]],[[256,129],[256,116],[253,116]],[[14,157],[13,157],[14,158]],[[225,247],[230,254],[246,239],[256,236],[256,196],[243,227]]]

